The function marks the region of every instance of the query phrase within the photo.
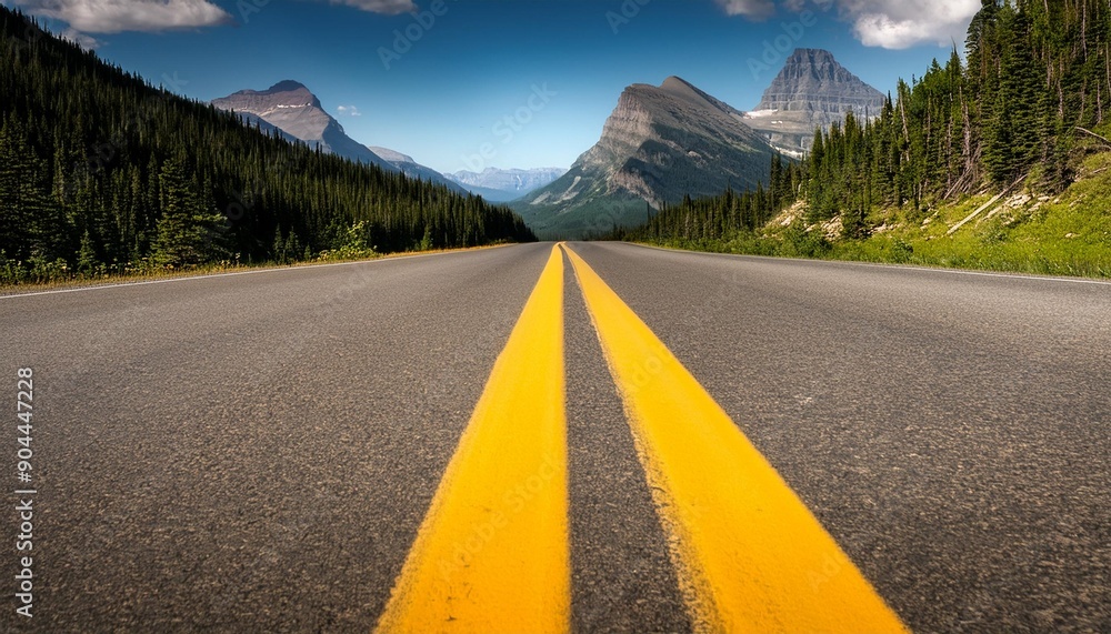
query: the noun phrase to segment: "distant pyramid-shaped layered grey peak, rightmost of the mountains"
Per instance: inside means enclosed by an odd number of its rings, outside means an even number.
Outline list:
[[[843,122],[850,110],[861,120],[877,117],[885,100],[838,63],[833,53],[795,49],[744,122],[782,152],[801,157],[817,128],[828,130],[833,122]]]

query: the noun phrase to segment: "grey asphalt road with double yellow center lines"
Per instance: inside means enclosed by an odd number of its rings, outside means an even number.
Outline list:
[[[1111,284],[565,246],[0,298],[0,628],[1111,631]]]

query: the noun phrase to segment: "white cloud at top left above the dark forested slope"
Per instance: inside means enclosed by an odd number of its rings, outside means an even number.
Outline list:
[[[231,16],[208,0],[14,0],[27,12],[61,20],[72,33],[213,27]]]

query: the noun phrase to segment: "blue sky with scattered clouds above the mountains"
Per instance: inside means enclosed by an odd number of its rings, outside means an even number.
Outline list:
[[[795,47],[864,81],[961,46],[979,0],[4,0],[200,100],[283,79],[443,172],[569,167],[621,90],[675,74],[747,110]],[[439,13],[439,14],[437,14]],[[400,37],[399,37],[400,33]],[[482,157],[481,151],[486,155]]]

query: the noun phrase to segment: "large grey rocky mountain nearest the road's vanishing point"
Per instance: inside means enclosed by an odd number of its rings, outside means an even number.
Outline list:
[[[642,223],[685,195],[767,182],[774,153],[742,112],[677,77],[624,90],[598,143],[571,169],[511,207],[549,235]]]

